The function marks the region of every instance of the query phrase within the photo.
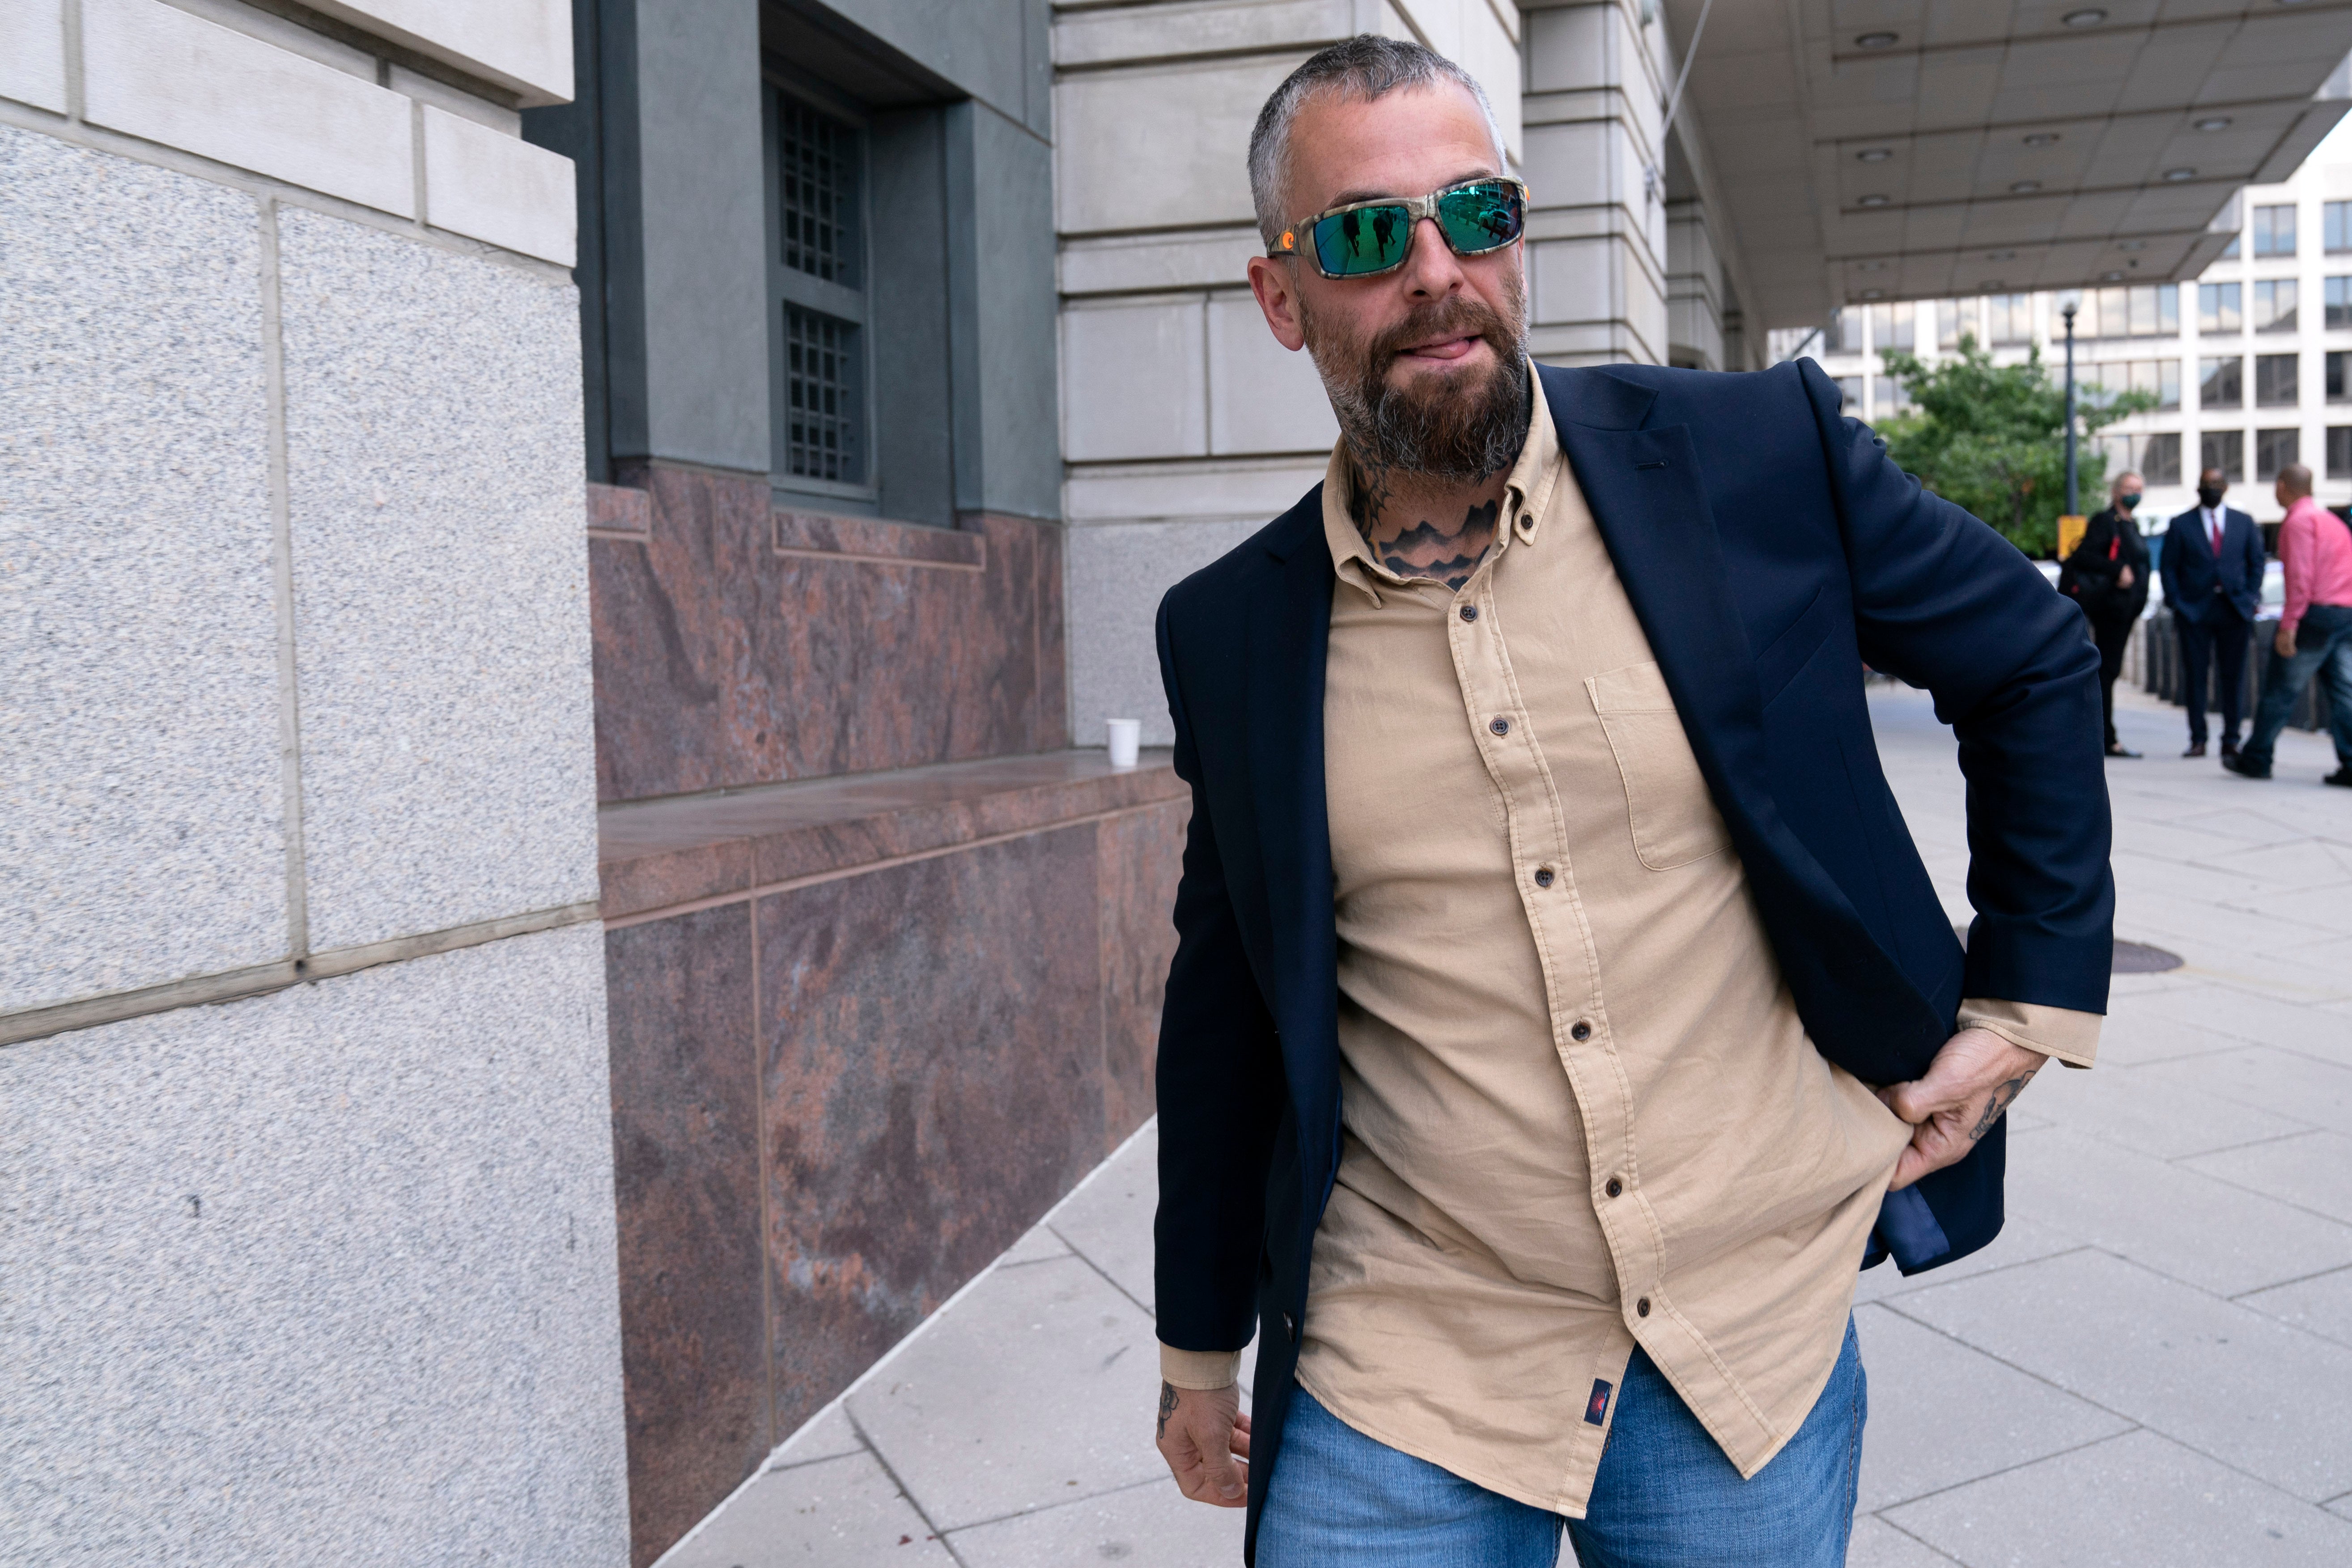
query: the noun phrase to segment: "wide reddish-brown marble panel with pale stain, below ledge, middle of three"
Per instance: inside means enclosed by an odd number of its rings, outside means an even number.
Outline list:
[[[1101,1159],[1094,851],[1084,823],[757,903],[779,1429]]]

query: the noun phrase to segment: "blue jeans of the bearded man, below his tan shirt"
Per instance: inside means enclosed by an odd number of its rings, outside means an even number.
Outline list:
[[[1639,1349],[1583,1519],[1515,1502],[1378,1443],[1291,1392],[1258,1568],[1552,1568],[1566,1523],[1583,1568],[1844,1568],[1870,1415],[1846,1347],[1797,1436],[1740,1481]]]

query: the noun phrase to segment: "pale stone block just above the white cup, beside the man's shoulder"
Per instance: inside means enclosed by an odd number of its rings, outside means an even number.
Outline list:
[[[1152,616],[1160,597],[1263,529],[1249,522],[1134,522],[1070,529],[1070,738],[1103,741],[1103,719],[1143,719],[1145,745],[1169,745]]]

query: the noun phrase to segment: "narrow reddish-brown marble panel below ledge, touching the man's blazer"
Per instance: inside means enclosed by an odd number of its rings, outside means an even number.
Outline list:
[[[1096,823],[1103,898],[1103,1131],[1115,1147],[1157,1103],[1160,1001],[1176,957],[1176,877],[1192,802]],[[1108,1152],[1108,1150],[1105,1150]]]

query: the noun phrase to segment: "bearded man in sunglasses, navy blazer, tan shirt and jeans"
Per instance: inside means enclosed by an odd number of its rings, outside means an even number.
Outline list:
[[[2098,656],[1816,364],[1534,367],[1428,49],[1310,59],[1249,174],[1343,437],[1160,607],[1162,1455],[1261,1568],[1842,1563],[1856,1269],[1985,1246],[2002,1110],[2096,1051]],[[1959,733],[1966,952],[1863,661]]]

